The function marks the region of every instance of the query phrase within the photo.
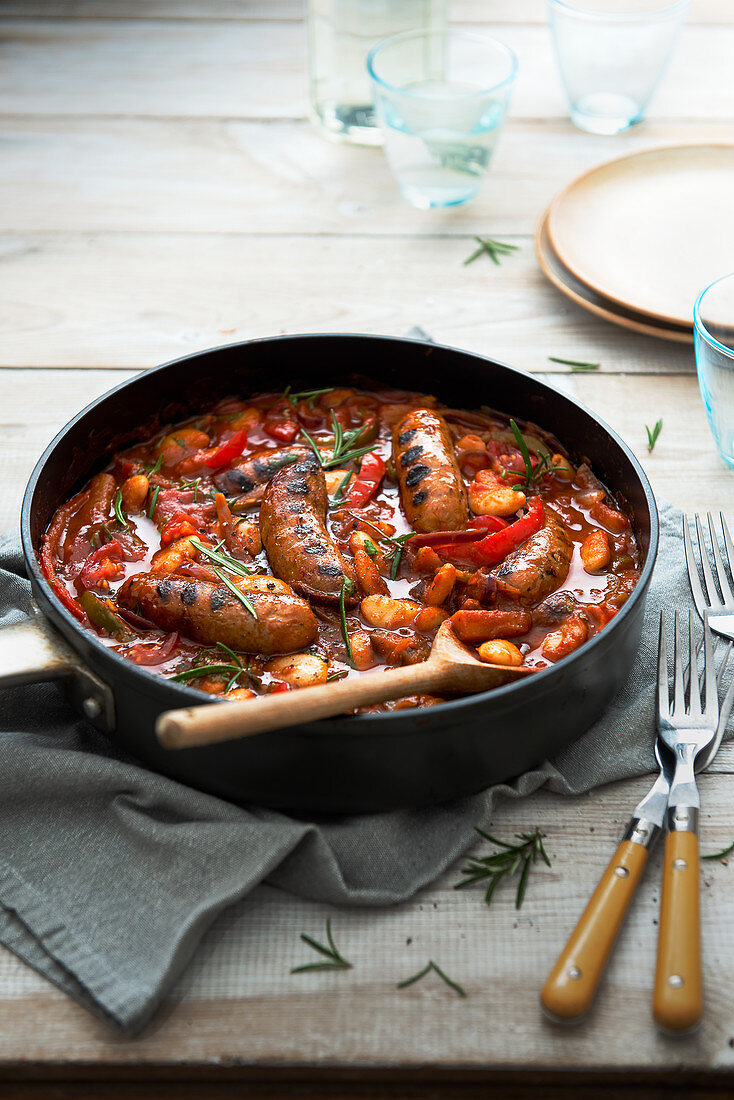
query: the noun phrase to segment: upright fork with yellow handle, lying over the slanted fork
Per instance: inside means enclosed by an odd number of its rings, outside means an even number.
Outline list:
[[[688,650],[689,682],[686,689],[683,650]],[[703,610],[703,675],[699,680],[699,654],[693,616],[688,613],[688,642],[682,638],[680,614],[675,614],[673,695],[668,689],[668,647],[665,615],[660,615],[658,649],[658,744],[675,758],[666,824],[660,925],[655,971],[653,1013],[666,1031],[693,1027],[703,1008],[701,978],[701,915],[699,898],[699,793],[695,758],[716,737],[719,693],[713,642]],[[701,697],[703,692],[703,700]]]

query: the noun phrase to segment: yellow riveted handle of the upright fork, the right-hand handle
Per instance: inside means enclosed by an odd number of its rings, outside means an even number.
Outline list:
[[[699,838],[694,832],[668,833],[653,1014],[666,1031],[681,1032],[702,1011]]]

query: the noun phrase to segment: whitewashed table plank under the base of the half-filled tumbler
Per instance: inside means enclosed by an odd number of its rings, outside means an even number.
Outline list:
[[[306,121],[0,119],[0,233],[532,233],[605,160],[731,136],[730,122],[650,122],[611,145],[514,119],[479,195],[424,211],[401,198],[382,150],[332,144]]]

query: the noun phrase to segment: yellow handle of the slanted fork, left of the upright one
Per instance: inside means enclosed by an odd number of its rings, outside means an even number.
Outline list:
[[[580,1020],[589,1009],[647,857],[644,845],[623,840],[610,860],[543,987],[540,1002],[555,1019]]]

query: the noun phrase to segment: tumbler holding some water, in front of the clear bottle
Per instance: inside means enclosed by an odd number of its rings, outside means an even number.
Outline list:
[[[476,194],[516,70],[507,46],[459,31],[396,34],[370,51],[387,162],[409,202],[427,210]]]

